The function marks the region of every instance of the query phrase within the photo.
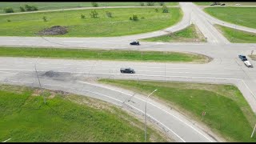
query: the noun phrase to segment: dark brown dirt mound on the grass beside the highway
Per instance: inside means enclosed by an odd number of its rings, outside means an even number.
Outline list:
[[[63,35],[66,34],[68,31],[64,26],[52,26],[48,29],[40,31],[39,35]]]

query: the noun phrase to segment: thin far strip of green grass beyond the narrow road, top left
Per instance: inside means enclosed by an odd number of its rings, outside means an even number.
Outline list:
[[[140,2],[97,2],[98,6],[141,6]],[[79,7],[92,7],[91,2],[0,2],[0,14],[6,7],[12,7],[14,12],[20,12],[19,6],[38,6],[38,10],[57,10]],[[165,2],[166,6],[178,6],[178,2]],[[144,2],[146,6],[146,2]],[[160,6],[154,2],[154,6]]]

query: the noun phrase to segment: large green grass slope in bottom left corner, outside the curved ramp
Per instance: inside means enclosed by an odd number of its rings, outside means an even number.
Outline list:
[[[144,142],[143,122],[94,98],[0,85],[0,141]],[[54,98],[50,96],[53,96]],[[147,142],[167,142],[148,127]]]

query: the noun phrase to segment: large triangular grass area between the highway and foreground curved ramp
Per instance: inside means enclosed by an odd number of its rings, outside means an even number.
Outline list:
[[[133,80],[101,79],[114,86],[150,94],[160,101],[188,115],[198,122],[204,122],[229,142],[256,142],[250,138],[255,125],[255,114],[236,86],[189,82],[150,82]],[[206,115],[202,121],[202,112]]]

